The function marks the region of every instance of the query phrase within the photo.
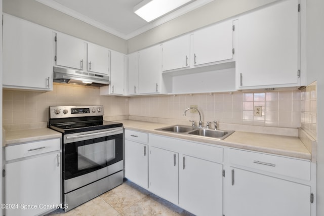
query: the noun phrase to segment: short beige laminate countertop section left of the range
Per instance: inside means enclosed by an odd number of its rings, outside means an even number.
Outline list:
[[[3,146],[18,143],[27,143],[39,140],[61,138],[62,133],[50,128],[22,129],[17,131],[6,131]]]

